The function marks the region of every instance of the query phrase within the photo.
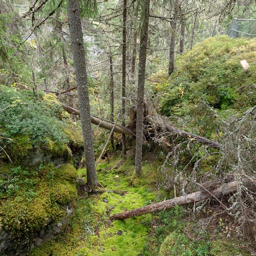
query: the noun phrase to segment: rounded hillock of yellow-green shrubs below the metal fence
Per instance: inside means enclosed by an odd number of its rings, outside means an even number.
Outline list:
[[[163,95],[162,112],[182,116],[200,103],[219,110],[256,104],[255,50],[254,39],[205,39],[177,59],[177,69],[169,77],[168,86],[156,85]],[[240,64],[242,59],[250,65],[246,72]]]

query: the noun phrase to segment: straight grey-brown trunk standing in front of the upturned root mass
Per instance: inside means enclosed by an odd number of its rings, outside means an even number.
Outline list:
[[[150,16],[150,0],[144,0],[142,5],[144,18],[140,32],[139,75],[137,96],[137,122],[136,122],[136,154],[135,173],[141,174],[142,170],[142,142],[143,142],[143,112],[144,112],[144,84],[146,68],[146,47],[148,38],[148,19]]]

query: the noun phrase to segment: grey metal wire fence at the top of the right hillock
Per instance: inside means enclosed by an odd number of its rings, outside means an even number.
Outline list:
[[[233,38],[256,37],[256,19],[234,18],[227,35]]]

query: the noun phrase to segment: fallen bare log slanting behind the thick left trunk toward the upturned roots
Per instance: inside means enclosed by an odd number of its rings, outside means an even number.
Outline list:
[[[71,108],[71,106],[63,104],[61,102],[59,102],[59,103],[62,105],[63,109],[65,109],[68,113],[73,114],[75,116],[80,116],[79,110]],[[112,123],[102,121],[94,116],[91,116],[91,121],[93,124],[98,125],[99,127],[102,127],[106,130],[111,131],[114,127],[114,132],[116,132],[116,133],[136,136],[132,131],[130,131],[129,129],[127,129],[121,125],[118,125],[118,124],[114,125]]]

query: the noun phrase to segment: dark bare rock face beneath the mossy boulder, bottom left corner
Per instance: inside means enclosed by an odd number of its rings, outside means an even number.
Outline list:
[[[26,255],[27,251],[30,249],[33,249],[35,246],[40,246],[45,241],[53,239],[56,234],[64,232],[68,224],[67,217],[73,211],[68,205],[66,205],[65,208],[67,209],[65,218],[57,224],[49,220],[49,224],[43,229],[30,234],[30,242],[28,242],[28,238],[20,238],[18,236],[10,237],[7,231],[0,229],[0,256]]]

